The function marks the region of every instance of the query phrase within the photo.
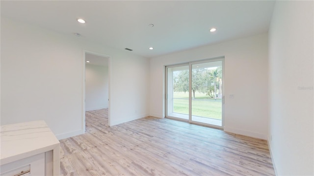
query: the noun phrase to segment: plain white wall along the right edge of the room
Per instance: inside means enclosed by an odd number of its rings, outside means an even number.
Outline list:
[[[276,1],[269,29],[268,141],[278,175],[314,175],[313,1]]]

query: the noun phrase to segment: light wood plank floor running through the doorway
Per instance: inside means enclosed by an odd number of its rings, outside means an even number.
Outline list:
[[[273,176],[265,140],[170,119],[109,127],[86,112],[86,133],[60,140],[63,176]]]

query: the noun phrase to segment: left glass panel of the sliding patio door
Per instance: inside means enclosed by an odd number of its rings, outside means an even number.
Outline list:
[[[189,66],[167,67],[167,116],[189,119]]]

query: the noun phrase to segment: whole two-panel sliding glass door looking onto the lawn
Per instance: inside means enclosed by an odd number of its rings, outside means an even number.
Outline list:
[[[166,66],[166,117],[223,125],[224,58]]]

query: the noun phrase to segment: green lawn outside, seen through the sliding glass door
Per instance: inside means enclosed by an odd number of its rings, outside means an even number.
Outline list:
[[[195,116],[221,120],[221,107],[221,99],[214,100],[203,93],[195,93],[195,99],[192,99],[192,115]],[[188,114],[188,92],[174,92],[173,111]]]

